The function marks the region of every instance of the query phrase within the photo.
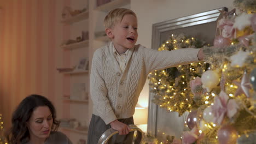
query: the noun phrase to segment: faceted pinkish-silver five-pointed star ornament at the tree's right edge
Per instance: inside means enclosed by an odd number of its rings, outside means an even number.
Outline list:
[[[236,89],[235,96],[243,93],[246,95],[247,98],[250,97],[249,89],[251,88],[251,86],[249,83],[249,76],[247,75],[246,71],[243,73],[241,82],[234,81],[234,83],[238,86],[238,88]]]

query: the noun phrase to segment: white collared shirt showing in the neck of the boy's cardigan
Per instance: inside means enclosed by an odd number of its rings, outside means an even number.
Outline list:
[[[113,52],[114,52],[115,59],[117,59],[117,62],[119,64],[119,68],[120,68],[121,72],[123,73],[124,69],[125,69],[126,59],[127,59],[128,53],[129,53],[129,49],[127,49],[127,51],[125,53],[122,53],[120,55],[117,52],[117,50],[115,49],[115,47],[113,46]]]

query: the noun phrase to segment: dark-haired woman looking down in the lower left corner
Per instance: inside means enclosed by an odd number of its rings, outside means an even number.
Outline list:
[[[10,144],[72,143],[65,134],[56,131],[60,122],[56,120],[55,108],[41,95],[32,94],[22,100],[11,124],[7,134]]]

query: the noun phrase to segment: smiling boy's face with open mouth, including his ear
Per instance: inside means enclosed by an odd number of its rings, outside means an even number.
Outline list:
[[[106,29],[106,33],[118,51],[132,49],[138,38],[137,18],[127,14],[113,28]]]

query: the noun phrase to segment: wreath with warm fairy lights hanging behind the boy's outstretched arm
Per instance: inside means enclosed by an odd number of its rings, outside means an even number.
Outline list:
[[[200,40],[180,34],[171,35],[158,50],[171,51],[186,47],[199,48],[203,45],[205,44]],[[176,111],[179,116],[185,111],[196,109],[201,104],[204,104],[205,99],[194,98],[190,91],[189,82],[195,79],[196,76],[201,76],[206,69],[206,63],[198,62],[152,71],[148,77],[150,80],[149,86],[152,89],[151,92],[154,94],[153,103],[160,105],[167,111]],[[200,91],[200,88],[198,91]]]

